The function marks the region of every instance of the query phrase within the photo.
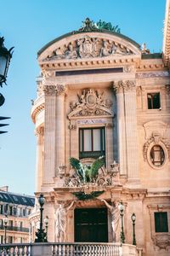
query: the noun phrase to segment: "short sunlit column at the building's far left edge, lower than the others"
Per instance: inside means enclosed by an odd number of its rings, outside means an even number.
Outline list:
[[[41,191],[43,171],[43,134],[42,126],[36,129],[37,135],[37,163],[36,163],[36,192]]]

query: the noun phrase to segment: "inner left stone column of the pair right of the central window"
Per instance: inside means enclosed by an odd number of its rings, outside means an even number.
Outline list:
[[[113,89],[116,92],[116,119],[117,119],[117,137],[118,137],[118,158],[120,164],[120,174],[127,174],[127,150],[126,150],[126,132],[125,132],[125,106],[123,95],[122,80],[113,83]]]

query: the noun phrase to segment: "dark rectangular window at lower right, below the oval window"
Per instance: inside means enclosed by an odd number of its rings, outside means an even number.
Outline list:
[[[154,212],[156,232],[168,232],[167,212]]]

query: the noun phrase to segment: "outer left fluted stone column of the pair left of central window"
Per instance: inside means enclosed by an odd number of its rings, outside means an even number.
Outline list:
[[[55,172],[56,85],[44,85],[44,169],[43,183],[53,183]]]

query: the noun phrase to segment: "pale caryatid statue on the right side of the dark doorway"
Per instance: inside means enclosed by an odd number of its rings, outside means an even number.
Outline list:
[[[116,242],[116,230],[119,224],[119,218],[120,218],[120,212],[118,209],[118,201],[113,202],[112,205],[110,205],[107,201],[102,199],[105,203],[105,206],[110,210],[111,212],[111,229],[112,229],[112,235],[113,235],[113,241]]]

